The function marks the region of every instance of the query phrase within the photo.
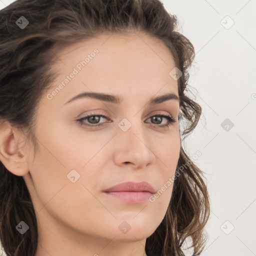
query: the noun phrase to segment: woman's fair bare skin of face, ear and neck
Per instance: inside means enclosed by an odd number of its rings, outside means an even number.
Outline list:
[[[161,128],[166,118],[150,118],[157,113],[177,120],[178,100],[148,105],[154,96],[178,96],[177,81],[169,75],[175,64],[168,48],[147,34],[110,35],[52,49],[58,56],[52,69],[60,74],[36,112],[35,155],[17,128],[8,122],[0,126],[0,160],[23,176],[32,197],[38,225],[35,256],[142,256],[146,238],[167,210],[172,184],[153,202],[128,203],[102,192],[142,180],[159,190],[175,174],[180,150],[178,121]],[[94,48],[99,50],[95,57],[48,99],[47,93]],[[123,101],[87,97],[64,104],[91,91]],[[91,113],[107,116],[98,121],[104,124],[90,128],[76,121]],[[127,131],[118,126],[123,118],[131,123]],[[93,125],[88,119],[83,122]],[[74,183],[67,178],[72,169],[80,174]],[[118,228],[123,221],[131,227],[126,233]]]

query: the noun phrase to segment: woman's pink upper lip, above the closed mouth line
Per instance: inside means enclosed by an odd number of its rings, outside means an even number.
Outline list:
[[[145,181],[141,181],[141,182],[127,181],[127,182],[119,183],[117,185],[114,185],[104,190],[104,192],[117,192],[117,191],[148,191],[150,193],[154,193],[153,187]]]

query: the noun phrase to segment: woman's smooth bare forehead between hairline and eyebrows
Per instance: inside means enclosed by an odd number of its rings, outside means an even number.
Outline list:
[[[72,70],[77,72],[61,92],[65,99],[90,90],[148,97],[159,90],[177,94],[177,81],[169,75],[175,67],[172,54],[164,42],[148,34],[105,33],[55,47],[53,52],[53,68],[59,70],[53,89]]]

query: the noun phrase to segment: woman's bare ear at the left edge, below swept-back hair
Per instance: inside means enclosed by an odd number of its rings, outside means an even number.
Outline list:
[[[0,122],[0,161],[13,174],[23,176],[29,172],[29,168],[19,138],[22,136],[17,128],[8,121]]]

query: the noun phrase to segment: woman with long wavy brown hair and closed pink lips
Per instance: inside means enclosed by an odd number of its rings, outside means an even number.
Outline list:
[[[201,108],[176,17],[159,0],[17,0],[0,19],[5,253],[184,255],[191,238],[199,255],[209,199],[181,136]]]

